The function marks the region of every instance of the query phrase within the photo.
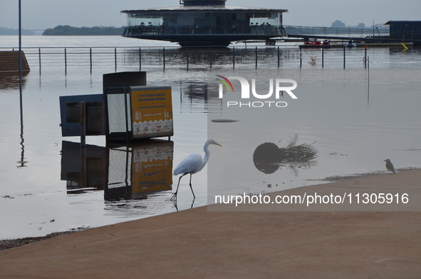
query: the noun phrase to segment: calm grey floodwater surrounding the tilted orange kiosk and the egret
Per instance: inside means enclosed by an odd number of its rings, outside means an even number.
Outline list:
[[[16,48],[17,44],[16,36],[0,37],[0,47]],[[177,48],[175,44],[118,36],[24,36],[23,46],[145,46],[144,53],[155,46]],[[244,51],[243,45],[235,48],[237,55]],[[254,50],[254,46],[247,48]],[[298,49],[281,45],[281,50],[291,48]],[[321,69],[321,52],[317,50],[303,51],[302,69],[296,51],[282,56],[279,69],[276,54],[261,52],[258,69],[252,52],[239,56],[235,69],[231,54],[214,53],[218,60],[212,69],[207,59],[197,56],[190,56],[189,71],[180,55],[167,56],[165,71],[162,64],[145,62],[142,71],[147,71],[148,85],[172,86],[175,136],[169,143],[149,146],[108,146],[104,136],[88,136],[85,153],[78,146],[80,138],[61,136],[58,100],[60,96],[102,93],[103,74],[115,71],[113,62],[95,64],[98,66],[90,72],[85,61],[69,61],[65,71],[61,57],[54,63],[43,62],[40,71],[37,56],[30,55],[31,71],[24,76],[22,99],[16,75],[0,76],[0,239],[204,206],[208,185],[227,185],[234,194],[280,191],[322,183],[318,179],[329,176],[385,171],[386,158],[395,168],[420,168],[420,51],[369,49],[370,71],[364,69],[363,51],[352,51],[345,70],[341,51],[325,51]],[[311,63],[312,57],[316,64]],[[139,61],[118,62],[117,71],[138,69]],[[207,85],[208,78],[213,80],[215,75],[250,76],[261,79],[262,86],[271,75],[293,78],[298,83],[294,91],[298,99],[291,101],[286,96],[282,101],[289,106],[280,110],[227,111],[214,83]],[[175,204],[170,198],[178,177],[168,173],[190,153],[202,153],[208,133],[223,147],[211,146],[209,168],[194,174],[196,199],[193,201],[186,176]],[[313,143],[318,151],[315,161],[306,166],[281,166],[271,174],[254,166],[253,151],[260,143],[281,141],[282,147],[295,134],[298,144]],[[145,154],[162,150],[168,154],[163,160],[167,185],[145,187],[145,191],[135,188],[140,183],[135,181],[139,166],[144,169],[145,162],[148,166],[152,162],[145,160]],[[150,160],[162,159],[151,156]]]

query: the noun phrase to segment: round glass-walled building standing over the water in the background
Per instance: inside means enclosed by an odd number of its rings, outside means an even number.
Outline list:
[[[228,46],[232,41],[284,36],[285,9],[225,6],[227,0],[180,0],[180,6],[121,11],[123,36],[177,42],[180,46]]]

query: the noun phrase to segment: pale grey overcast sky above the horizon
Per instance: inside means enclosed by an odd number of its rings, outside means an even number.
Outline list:
[[[47,29],[58,25],[125,26],[122,10],[178,6],[179,0],[21,0],[22,28]],[[18,0],[0,0],[0,27],[18,28]],[[228,0],[229,6],[287,9],[284,25],[331,26],[337,19],[347,26],[389,20],[421,20],[421,0]]]

